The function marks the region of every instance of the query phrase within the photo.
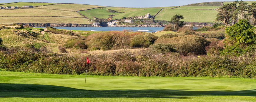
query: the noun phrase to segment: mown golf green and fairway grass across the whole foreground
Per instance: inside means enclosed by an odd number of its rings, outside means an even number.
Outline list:
[[[256,80],[0,71],[0,101],[256,101]]]

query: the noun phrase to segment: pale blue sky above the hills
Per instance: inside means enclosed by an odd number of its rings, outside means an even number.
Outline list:
[[[81,3],[100,6],[114,7],[166,7],[182,6],[191,3],[225,1],[225,0],[0,0],[0,3],[7,2],[54,2],[54,3]],[[232,1],[232,0],[229,0]],[[235,0],[233,0],[235,1]],[[245,0],[255,1],[255,0]]]

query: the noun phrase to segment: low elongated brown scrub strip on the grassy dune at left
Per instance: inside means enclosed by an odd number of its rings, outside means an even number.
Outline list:
[[[45,32],[50,32],[53,34],[63,34],[63,35],[70,35],[70,36],[79,36],[79,34],[76,34],[73,31],[67,31],[67,30],[59,30],[53,27],[46,27],[47,31]]]

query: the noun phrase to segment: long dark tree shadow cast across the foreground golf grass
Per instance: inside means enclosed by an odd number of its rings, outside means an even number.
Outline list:
[[[0,83],[0,98],[176,98],[187,99],[192,96],[256,96],[256,89],[243,91],[189,91],[177,89],[144,90],[83,90],[70,87],[36,84]]]

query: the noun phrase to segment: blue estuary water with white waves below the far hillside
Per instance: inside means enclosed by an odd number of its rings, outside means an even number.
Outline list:
[[[38,27],[42,28],[42,27]],[[67,29],[67,30],[82,30],[82,31],[144,31],[144,32],[156,32],[161,31],[164,27],[54,27],[57,29]]]

